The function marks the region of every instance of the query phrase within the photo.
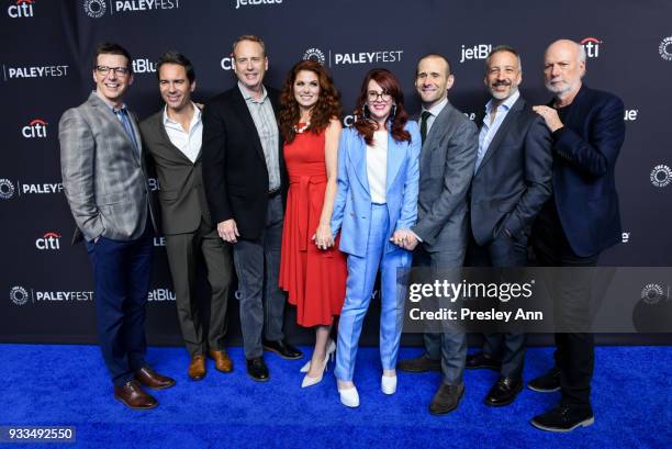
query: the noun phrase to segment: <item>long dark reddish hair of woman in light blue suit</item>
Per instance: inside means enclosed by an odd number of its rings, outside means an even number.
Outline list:
[[[390,113],[388,121],[392,120],[392,137],[396,142],[411,141],[411,133],[404,130],[404,125],[408,121],[408,113],[404,109],[404,93],[401,90],[401,85],[396,77],[388,69],[374,68],[369,70],[361,83],[361,91],[355,106],[355,128],[365,138],[367,145],[373,145],[373,132],[378,128],[376,123],[369,119],[369,108],[367,106],[367,96],[369,92],[369,81],[376,81],[383,89],[383,92],[392,96],[392,100],[396,104],[394,115]],[[388,122],[385,122],[387,124]]]

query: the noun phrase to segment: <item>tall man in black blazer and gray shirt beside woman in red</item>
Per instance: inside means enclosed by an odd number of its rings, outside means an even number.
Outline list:
[[[288,187],[279,92],[262,83],[268,57],[258,36],[238,37],[233,57],[237,86],[212,99],[203,113],[203,181],[217,233],[233,244],[247,373],[267,381],[264,349],[302,357],[284,340],[284,294],[278,285]]]

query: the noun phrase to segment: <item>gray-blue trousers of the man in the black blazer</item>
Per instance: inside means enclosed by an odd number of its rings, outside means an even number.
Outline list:
[[[280,340],[284,315],[284,292],[280,290],[280,247],[282,245],[282,198],[268,201],[266,228],[261,237],[238,239],[233,246],[234,265],[240,292],[240,329],[245,358],[261,357],[261,332],[266,339]]]

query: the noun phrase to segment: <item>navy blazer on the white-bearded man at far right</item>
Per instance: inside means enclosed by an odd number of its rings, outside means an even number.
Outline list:
[[[553,138],[553,192],[572,250],[589,257],[621,239],[614,169],[625,141],[625,106],[582,86]]]

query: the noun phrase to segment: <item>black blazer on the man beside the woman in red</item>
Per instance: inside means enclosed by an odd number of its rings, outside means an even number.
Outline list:
[[[279,92],[266,89],[278,117]],[[288,182],[281,134],[278,143],[284,198]],[[214,225],[234,218],[242,238],[260,237],[268,209],[268,169],[259,134],[237,85],[205,104],[201,154],[203,184]]]

